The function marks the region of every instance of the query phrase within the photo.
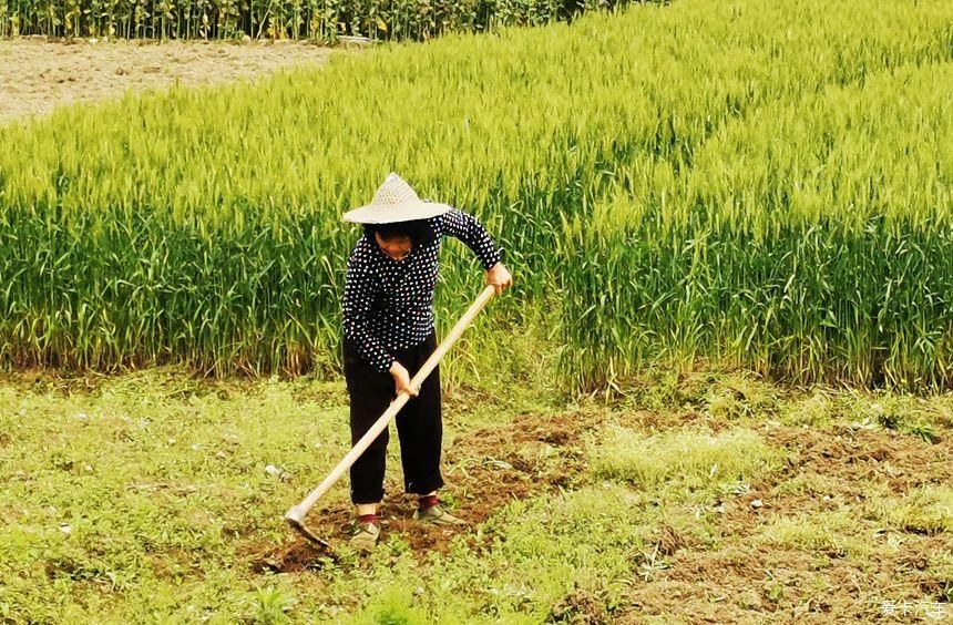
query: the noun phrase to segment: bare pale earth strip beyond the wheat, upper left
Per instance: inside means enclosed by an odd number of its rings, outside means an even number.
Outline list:
[[[119,98],[130,89],[254,80],[280,69],[322,63],[330,53],[299,42],[3,40],[0,124],[45,115],[60,105]]]

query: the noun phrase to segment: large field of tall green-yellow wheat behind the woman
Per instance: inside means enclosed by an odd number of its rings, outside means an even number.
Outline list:
[[[575,388],[698,357],[950,387],[951,58],[943,0],[686,0],[63,110],[0,130],[0,357],[334,368],[339,215],[394,170],[500,233],[498,310],[555,321]]]

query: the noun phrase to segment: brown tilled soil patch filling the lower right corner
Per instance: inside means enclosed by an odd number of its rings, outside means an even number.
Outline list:
[[[634,584],[628,609],[614,621],[936,622],[929,611],[953,621],[949,604],[924,598],[949,583],[926,571],[931,560],[953,551],[949,533],[893,529],[901,535],[899,549],[874,549],[869,557],[758,541],[775,520],[832,511],[855,519],[861,535],[868,530],[875,534],[879,523],[871,521],[869,506],[882,502],[867,501],[865,493],[887,489],[899,496],[928,484],[953,483],[953,440],[930,443],[890,431],[788,427],[768,429],[766,439],[793,452],[789,465],[752,483],[744,495],[713,502],[719,509],[718,544],[705,549],[683,541],[685,547],[670,553],[666,570]],[[782,485],[795,477],[818,478],[829,492],[791,493]],[[891,614],[884,607],[890,605],[906,605],[909,613],[903,616],[898,607]]]

